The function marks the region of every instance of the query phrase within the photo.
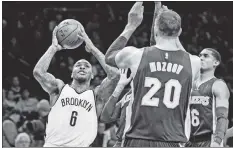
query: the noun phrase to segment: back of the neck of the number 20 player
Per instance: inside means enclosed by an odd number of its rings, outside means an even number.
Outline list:
[[[180,48],[176,41],[177,38],[157,37],[155,46],[161,50],[177,51],[180,50]]]

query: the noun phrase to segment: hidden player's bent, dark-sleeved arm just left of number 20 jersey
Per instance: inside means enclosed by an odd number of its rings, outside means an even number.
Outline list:
[[[104,123],[115,121],[119,118],[121,112],[121,101],[119,96],[124,90],[125,86],[132,80],[132,76],[127,78],[128,69],[121,69],[121,77],[113,94],[109,97],[107,103],[104,105],[103,111],[100,116],[100,121]],[[122,100],[125,96],[122,98]]]

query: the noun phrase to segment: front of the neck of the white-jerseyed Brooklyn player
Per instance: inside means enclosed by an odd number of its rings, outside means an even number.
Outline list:
[[[73,80],[70,85],[76,92],[82,93],[90,88],[90,82],[79,82],[78,80]]]

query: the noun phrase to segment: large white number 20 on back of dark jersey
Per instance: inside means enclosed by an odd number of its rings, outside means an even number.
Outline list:
[[[159,98],[153,97],[156,92],[161,88],[162,84],[157,78],[146,77],[145,87],[151,87],[151,89],[143,96],[141,105],[143,106],[156,106],[159,105]],[[173,100],[171,101],[172,88],[174,87]],[[174,109],[179,105],[181,84],[178,80],[170,79],[165,84],[163,103],[167,108]]]

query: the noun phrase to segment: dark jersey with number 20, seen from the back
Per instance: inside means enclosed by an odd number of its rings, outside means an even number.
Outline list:
[[[187,142],[192,68],[187,52],[144,48],[133,79],[126,138]]]

